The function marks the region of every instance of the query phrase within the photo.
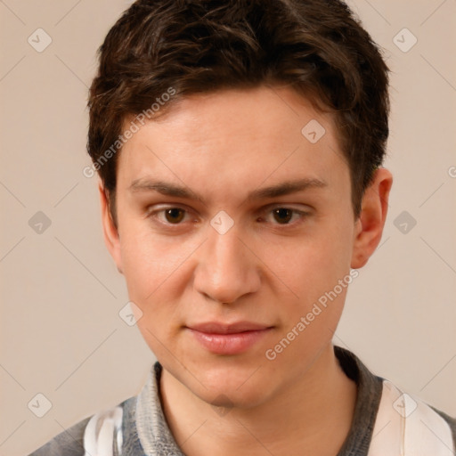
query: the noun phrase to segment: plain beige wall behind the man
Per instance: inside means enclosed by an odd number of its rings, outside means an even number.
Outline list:
[[[82,174],[95,51],[129,3],[0,1],[1,455],[28,454],[136,395],[154,359],[118,316],[126,287],[102,243],[96,179]],[[350,4],[393,70],[395,183],[335,342],[456,415],[456,2]],[[42,53],[28,44],[37,28],[53,40]],[[403,28],[418,39],[407,53],[393,42]],[[51,221],[42,233],[28,224],[38,211]],[[417,222],[407,233],[403,211]],[[28,409],[38,393],[53,404],[41,419]]]

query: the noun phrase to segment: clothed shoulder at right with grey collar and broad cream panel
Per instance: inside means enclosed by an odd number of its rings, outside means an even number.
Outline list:
[[[456,450],[456,419],[374,375],[353,353],[335,346],[335,354],[358,387],[352,428],[340,455],[428,456]]]

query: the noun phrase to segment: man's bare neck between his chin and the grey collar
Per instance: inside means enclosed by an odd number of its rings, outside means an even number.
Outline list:
[[[280,456],[303,450],[333,456],[348,435],[356,401],[356,386],[330,344],[303,379],[256,407],[217,413],[165,369],[160,390],[169,428],[187,456]]]

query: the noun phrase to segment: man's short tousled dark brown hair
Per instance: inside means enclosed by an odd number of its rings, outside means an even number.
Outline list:
[[[170,87],[173,97],[160,114],[189,94],[289,85],[334,112],[359,216],[363,193],[386,152],[388,69],[344,2],[137,0],[99,53],[87,150],[110,199],[123,123],[151,110]]]

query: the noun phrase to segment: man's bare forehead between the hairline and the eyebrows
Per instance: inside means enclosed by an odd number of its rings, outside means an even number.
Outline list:
[[[346,178],[333,118],[287,88],[192,95],[126,142],[118,184],[148,175],[226,191],[267,180]]]

